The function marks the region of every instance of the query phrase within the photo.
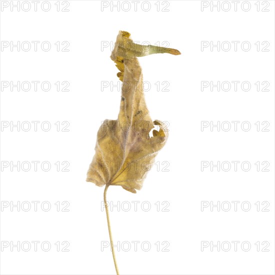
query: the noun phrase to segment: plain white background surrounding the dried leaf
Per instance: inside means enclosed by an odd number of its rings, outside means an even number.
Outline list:
[[[11,1],[12,2],[12,1]],[[116,119],[119,110],[120,92],[110,86],[101,89],[101,81],[117,84],[118,72],[109,55],[111,44],[119,30],[131,33],[134,41],[151,44],[164,43],[182,53],[178,56],[155,54],[140,57],[143,80],[151,88],[145,91],[145,99],[152,119],[168,121],[169,138],[158,153],[159,169],[154,165],[149,171],[143,187],[136,194],[120,186],[109,187],[107,199],[117,204],[126,201],[129,211],[113,208],[110,211],[114,243],[131,243],[129,251],[116,251],[121,274],[274,274],[274,1],[220,1],[220,9],[211,4],[217,1],[140,1],[136,11],[132,1],[120,1],[120,11],[103,1],[57,1],[34,4],[25,1],[23,9],[11,2],[1,1],[1,274],[113,274],[114,266],[109,248],[101,251],[101,241],[108,241],[105,212],[101,211],[103,188],[85,182],[88,165],[94,153],[96,132],[104,119]],[[21,1],[22,2],[22,1]],[[155,4],[156,3],[156,4]],[[228,3],[231,8],[228,8]],[[13,5],[17,1],[13,1]],[[117,1],[112,1],[117,4]],[[242,5],[241,5],[242,4]],[[247,11],[243,9],[248,9]],[[122,5],[122,6],[121,6]],[[201,6],[204,5],[204,8]],[[208,6],[207,6],[208,5]],[[268,6],[268,7],[266,7]],[[129,11],[125,11],[130,7]],[[157,10],[159,7],[159,10]],[[257,11],[259,7],[259,11]],[[224,11],[226,9],[228,11]],[[148,10],[147,10],[148,9]],[[147,10],[147,11],[145,11]],[[165,11],[166,10],[166,11]],[[269,11],[263,11],[269,10]],[[28,41],[29,50],[19,50],[10,43]],[[39,41],[37,51],[31,41]],[[41,49],[41,43],[51,44],[49,51]],[[57,51],[56,42],[60,49]],[[61,51],[68,41],[68,51]],[[166,41],[166,42],[165,42]],[[229,41],[231,49],[210,48],[201,50],[201,41],[220,44]],[[239,41],[234,50],[231,41]],[[241,43],[248,41],[250,50],[243,50]],[[259,41],[259,51],[255,43]],[[267,41],[269,51],[262,51]],[[65,42],[66,43],[66,42]],[[206,42],[207,44],[207,42]],[[2,44],[3,45],[3,44]],[[246,44],[247,45],[247,44]],[[27,43],[25,43],[27,47]],[[225,50],[224,50],[225,49]],[[3,82],[6,81],[6,82]],[[13,81],[49,81],[49,91],[29,91],[16,87],[11,91],[3,87]],[[57,91],[57,81],[68,81],[68,91]],[[112,81],[112,82],[111,82]],[[160,81],[160,90],[154,84]],[[167,90],[161,83],[168,81]],[[248,81],[250,90],[242,90],[238,84],[224,91],[214,87],[201,91],[201,81]],[[257,91],[257,81],[268,81],[267,91]],[[263,86],[260,86],[262,89]],[[3,122],[7,121],[7,122]],[[27,131],[10,124],[28,121]],[[37,131],[31,121],[39,121]],[[41,123],[49,121],[48,131],[41,129]],[[56,121],[68,121],[68,131],[57,131]],[[231,123],[217,130],[210,126],[201,130],[201,121],[240,121],[237,130]],[[241,122],[248,121],[251,129],[245,131]],[[259,121],[260,130],[254,123]],[[262,121],[268,121],[269,131],[262,131]],[[4,127],[4,125],[7,125]],[[65,122],[67,123],[67,122]],[[206,122],[207,123],[207,122]],[[21,124],[20,124],[21,125]],[[27,123],[24,124],[27,128]],[[46,127],[46,124],[44,124]],[[247,124],[246,124],[247,125]],[[244,126],[246,126],[244,125]],[[32,164],[29,171],[17,167],[11,171],[11,161],[39,161],[37,171]],[[49,171],[41,169],[41,162],[51,164]],[[69,171],[57,171],[56,163],[67,161]],[[164,164],[162,164],[163,161]],[[210,166],[201,171],[201,161],[229,161],[229,171],[217,171]],[[234,171],[231,161],[240,161]],[[248,161],[249,171],[240,164]],[[269,171],[257,171],[254,164],[268,161]],[[169,164],[162,171],[166,164]],[[25,162],[27,167],[27,162]],[[207,162],[205,162],[207,163]],[[266,163],[266,162],[265,162]],[[8,165],[7,167],[5,167]],[[46,167],[46,166],[45,166]],[[227,166],[223,168],[226,169]],[[27,201],[29,210],[23,211],[10,205]],[[39,201],[37,211],[31,201]],[[41,202],[48,201],[49,211],[41,209]],[[67,201],[68,211],[61,211]],[[138,201],[137,210],[131,201]],[[145,211],[148,203],[151,209]],[[159,201],[160,209],[157,210]],[[165,202],[167,201],[167,202]],[[237,209],[231,203],[222,204],[219,211],[210,206],[201,210],[201,201],[220,204],[223,201],[239,201]],[[241,203],[247,201],[251,209],[244,211]],[[259,201],[259,211],[254,204]],[[269,211],[262,211],[267,201]],[[163,203],[163,205],[161,205]],[[166,209],[162,208],[169,204]],[[207,204],[207,202],[205,202]],[[4,205],[8,207],[3,207]],[[205,205],[206,205],[205,204]],[[249,205],[243,204],[243,207]],[[43,204],[46,208],[46,204]],[[21,204],[19,205],[21,206]],[[124,209],[124,210],[123,210]],[[11,241],[39,241],[37,251],[34,245],[29,251],[19,251]],[[49,251],[41,249],[41,242],[51,244]],[[57,251],[56,243],[67,241],[69,251]],[[134,251],[132,241],[139,241]],[[140,244],[151,244],[144,251]],[[154,243],[160,243],[160,251]],[[169,251],[161,251],[169,243]],[[201,241],[209,243],[201,251]],[[224,247],[210,247],[210,243]],[[227,242],[229,251],[224,251]],[[236,251],[232,241],[239,241]],[[243,241],[251,248],[244,251]],[[254,244],[259,241],[259,250]],[[269,251],[261,251],[268,242]],[[3,247],[6,244],[8,247]],[[45,246],[46,247],[46,246]],[[125,244],[124,248],[127,248]],[[146,248],[146,247],[145,247]],[[27,250],[26,248],[24,248]],[[117,248],[116,248],[117,249]],[[125,250],[124,249],[124,250]]]

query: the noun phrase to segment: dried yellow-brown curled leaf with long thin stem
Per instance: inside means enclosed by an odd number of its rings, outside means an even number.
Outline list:
[[[120,70],[122,84],[120,110],[116,120],[106,119],[97,132],[95,154],[89,165],[86,181],[105,185],[104,203],[110,245],[116,273],[118,268],[113,250],[106,191],[109,185],[120,185],[136,192],[142,187],[147,169],[141,163],[153,164],[157,152],[167,140],[167,131],[159,120],[149,116],[142,89],[142,72],[136,57],[152,53],[180,54],[176,49],[132,42],[130,33],[119,31],[110,58]],[[159,130],[153,129],[157,125]],[[149,132],[152,131],[152,137]],[[115,165],[113,165],[115,163]]]

